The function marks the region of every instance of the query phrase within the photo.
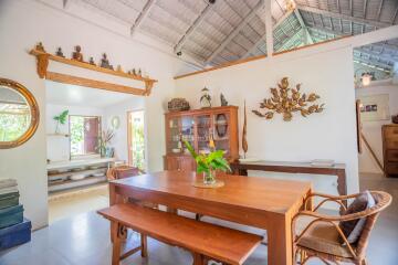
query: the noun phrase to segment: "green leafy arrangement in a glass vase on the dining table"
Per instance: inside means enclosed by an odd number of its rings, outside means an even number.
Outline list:
[[[184,145],[187,147],[190,155],[193,157],[197,162],[197,172],[203,174],[203,184],[205,186],[214,186],[216,171],[221,170],[223,172],[231,171],[231,168],[223,157],[223,150],[214,150],[209,153],[197,153],[193,147],[187,141],[184,140]]]

